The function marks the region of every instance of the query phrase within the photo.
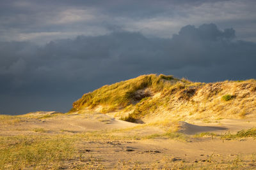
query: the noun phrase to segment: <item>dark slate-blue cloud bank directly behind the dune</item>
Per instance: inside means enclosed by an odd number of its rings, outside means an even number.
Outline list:
[[[67,111],[85,92],[140,74],[194,81],[256,78],[256,43],[235,37],[234,29],[203,24],[182,27],[170,39],[119,30],[43,46],[1,42],[0,112]]]

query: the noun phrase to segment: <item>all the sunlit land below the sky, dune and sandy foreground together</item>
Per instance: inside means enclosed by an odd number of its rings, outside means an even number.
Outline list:
[[[0,169],[255,169],[255,97],[256,80],[105,85],[69,113],[0,115]]]

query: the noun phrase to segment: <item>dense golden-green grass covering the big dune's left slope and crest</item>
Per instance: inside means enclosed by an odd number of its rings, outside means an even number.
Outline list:
[[[94,108],[97,105],[111,105],[111,111],[118,108],[125,108],[129,104],[134,104],[141,99],[150,96],[150,92],[159,92],[166,86],[170,86],[168,80],[179,81],[173,76],[160,74],[143,75],[127,81],[121,81],[113,85],[105,85],[100,89],[84,94],[81,99],[73,104],[71,111],[77,111],[82,108]],[[145,90],[138,93],[138,90]]]

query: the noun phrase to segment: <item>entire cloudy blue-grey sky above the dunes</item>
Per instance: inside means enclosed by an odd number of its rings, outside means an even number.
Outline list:
[[[62,111],[141,74],[256,78],[255,0],[0,0],[0,113]]]

